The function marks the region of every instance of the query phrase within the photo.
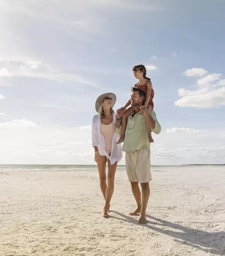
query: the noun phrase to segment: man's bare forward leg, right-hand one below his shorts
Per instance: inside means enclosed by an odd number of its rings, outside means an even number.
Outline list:
[[[141,186],[142,186],[142,209],[140,212],[140,218],[138,220],[138,223],[145,224],[146,223],[146,208],[147,208],[149,196],[150,196],[149,182],[141,183]]]

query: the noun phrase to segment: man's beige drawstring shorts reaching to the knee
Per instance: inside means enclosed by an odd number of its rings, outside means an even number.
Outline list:
[[[150,151],[146,148],[126,152],[126,169],[129,182],[151,181]]]

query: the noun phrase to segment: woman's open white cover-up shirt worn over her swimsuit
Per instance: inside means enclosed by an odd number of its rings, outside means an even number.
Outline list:
[[[116,123],[116,114],[113,114],[113,121],[114,124]],[[118,140],[120,139],[120,135],[116,133],[113,134],[113,141],[112,141],[112,150],[111,154],[106,152],[105,150],[105,139],[100,131],[100,116],[94,115],[92,119],[92,127],[91,127],[91,133],[92,133],[92,146],[98,147],[98,152],[101,156],[106,156],[111,164],[114,164],[116,161],[120,161],[122,158],[122,148],[121,144],[116,144]]]

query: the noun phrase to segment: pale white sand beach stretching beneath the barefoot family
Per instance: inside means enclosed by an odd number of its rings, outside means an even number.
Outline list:
[[[0,171],[0,255],[225,255],[224,167],[153,168],[144,225],[122,170],[109,219],[97,169]]]

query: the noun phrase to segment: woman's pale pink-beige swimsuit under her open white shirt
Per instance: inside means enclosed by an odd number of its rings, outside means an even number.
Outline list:
[[[100,124],[100,131],[105,138],[105,151],[110,154],[112,149],[113,134],[115,133],[114,120],[111,124]]]

